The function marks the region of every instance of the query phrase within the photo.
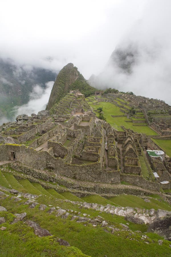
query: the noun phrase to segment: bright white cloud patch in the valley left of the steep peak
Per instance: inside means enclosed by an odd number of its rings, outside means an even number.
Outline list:
[[[14,107],[16,116],[20,114],[37,114],[38,111],[46,109],[46,105],[48,103],[53,84],[54,81],[47,82],[45,84],[45,89],[40,87],[38,84],[35,85],[33,87],[33,91],[30,93],[30,100],[28,101],[28,103],[19,107]]]

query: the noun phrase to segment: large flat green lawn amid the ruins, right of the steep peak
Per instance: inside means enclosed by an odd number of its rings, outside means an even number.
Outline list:
[[[146,135],[158,135],[154,130],[149,128],[148,126],[133,126],[135,123],[132,123],[131,119],[127,119],[127,117],[111,117],[111,115],[123,115],[120,111],[120,108],[114,105],[113,103],[109,102],[98,102],[97,105],[93,105],[92,102],[88,102],[89,105],[93,108],[94,112],[98,107],[103,107],[103,113],[104,117],[106,118],[106,121],[110,123],[110,125],[114,128],[116,128],[119,131],[123,131],[121,126],[124,126],[125,128],[131,128],[133,131],[138,133],[145,133]],[[99,113],[95,112],[97,117]],[[138,120],[138,119],[137,119]],[[144,119],[143,119],[144,120]],[[130,121],[130,122],[125,122]]]

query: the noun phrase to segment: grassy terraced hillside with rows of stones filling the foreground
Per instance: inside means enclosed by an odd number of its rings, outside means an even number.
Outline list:
[[[64,187],[60,192],[62,187],[57,190],[54,183],[41,184],[31,176],[29,181],[7,167],[0,173],[0,227],[5,229],[0,233],[1,256],[169,256],[170,242],[147,232],[148,224],[135,224],[109,211],[112,204],[124,206],[127,199],[134,210],[149,208],[143,198],[80,198]],[[156,210],[171,210],[159,195],[146,199]]]

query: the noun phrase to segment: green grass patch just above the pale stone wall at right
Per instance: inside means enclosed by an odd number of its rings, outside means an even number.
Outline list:
[[[156,200],[154,198],[150,198],[151,202],[145,202],[144,199],[134,196],[134,195],[119,195],[115,196],[112,198],[108,198],[111,202],[115,204],[119,204],[123,207],[129,206],[129,207],[137,207],[137,208],[145,208],[145,209],[151,209],[154,208],[155,210],[157,209],[162,209],[162,210],[168,210],[171,211],[171,206],[165,202],[164,200]]]

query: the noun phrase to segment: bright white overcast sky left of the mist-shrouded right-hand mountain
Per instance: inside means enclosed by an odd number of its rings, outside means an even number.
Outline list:
[[[146,1],[1,1],[0,54],[61,69],[74,63],[88,79],[107,63]],[[55,60],[50,62],[46,58]]]

